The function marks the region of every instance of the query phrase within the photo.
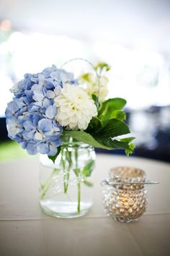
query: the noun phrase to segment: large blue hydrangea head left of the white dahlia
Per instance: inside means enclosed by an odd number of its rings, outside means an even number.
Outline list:
[[[73,74],[53,65],[41,73],[25,74],[13,88],[14,99],[6,108],[8,135],[30,155],[57,153],[63,128],[55,120],[54,99],[66,84],[77,84]]]

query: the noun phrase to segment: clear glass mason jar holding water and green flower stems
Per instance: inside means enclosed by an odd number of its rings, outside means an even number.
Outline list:
[[[93,147],[71,137],[64,138],[55,163],[40,155],[40,207],[45,213],[76,218],[90,210],[95,156]]]

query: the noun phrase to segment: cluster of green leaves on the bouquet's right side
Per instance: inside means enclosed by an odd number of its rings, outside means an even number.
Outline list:
[[[131,143],[134,137],[117,138],[130,133],[128,125],[123,121],[126,118],[125,111],[122,110],[125,104],[123,98],[109,99],[102,103],[98,116],[91,119],[86,131],[64,131],[64,133],[94,148],[123,149],[127,155],[130,155],[135,148]]]

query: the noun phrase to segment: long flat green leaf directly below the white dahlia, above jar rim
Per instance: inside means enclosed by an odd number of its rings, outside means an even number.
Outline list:
[[[73,139],[78,140],[80,142],[84,142],[86,144],[89,144],[93,146],[94,148],[104,148],[104,149],[112,149],[109,148],[102,143],[98,142],[97,140],[94,139],[89,133],[83,132],[83,131],[64,131],[63,132],[65,135],[69,135],[73,137]]]

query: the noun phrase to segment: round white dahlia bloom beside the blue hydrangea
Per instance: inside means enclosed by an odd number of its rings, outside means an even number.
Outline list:
[[[55,98],[58,108],[56,120],[68,129],[86,129],[93,116],[97,116],[94,101],[83,88],[65,85],[61,94]]]

